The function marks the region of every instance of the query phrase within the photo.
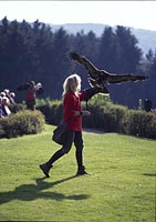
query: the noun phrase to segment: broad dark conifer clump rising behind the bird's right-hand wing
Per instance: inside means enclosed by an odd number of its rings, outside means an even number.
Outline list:
[[[100,65],[106,71],[118,74],[136,73],[142,58],[142,51],[136,44],[137,40],[129,29],[117,27],[113,31],[112,28],[106,27],[100,42]],[[134,89],[133,83],[110,85],[111,99],[114,102],[134,108],[137,105],[138,99],[134,97]]]

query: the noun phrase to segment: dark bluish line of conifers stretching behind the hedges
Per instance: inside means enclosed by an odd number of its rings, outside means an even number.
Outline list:
[[[29,23],[3,18],[0,21],[0,90],[15,91],[18,85],[34,80],[42,82],[42,98],[61,99],[64,79],[76,72],[82,78],[82,89],[89,87],[86,70],[71,61],[69,53],[75,51],[87,57],[97,68],[108,72],[146,74],[145,82],[108,85],[114,103],[137,109],[138,101],[146,98],[156,107],[156,50],[146,57],[131,29],[105,27],[101,37],[91,30],[69,34],[63,28],[53,31],[39,20]],[[21,101],[22,92],[17,92]]]

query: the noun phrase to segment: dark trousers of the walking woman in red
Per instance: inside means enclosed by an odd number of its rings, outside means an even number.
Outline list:
[[[81,168],[83,165],[83,139],[82,139],[82,132],[76,131],[67,131],[66,132],[66,139],[64,144],[60,150],[58,150],[51,159],[46,162],[50,167],[59,160],[61,157],[63,157],[65,153],[69,153],[72,144],[75,145],[75,158],[77,162],[77,167]]]

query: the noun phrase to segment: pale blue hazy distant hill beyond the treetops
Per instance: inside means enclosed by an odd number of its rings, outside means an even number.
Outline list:
[[[96,37],[101,37],[105,27],[108,27],[107,24],[100,23],[65,23],[50,26],[54,31],[63,27],[64,30],[73,34],[81,32],[82,30],[84,33],[87,33],[92,30],[96,34]],[[116,27],[112,28],[115,29]],[[146,54],[149,49],[156,50],[156,31],[134,29],[133,27],[127,28],[131,29],[132,33],[138,40],[138,47],[143,50],[144,54]]]

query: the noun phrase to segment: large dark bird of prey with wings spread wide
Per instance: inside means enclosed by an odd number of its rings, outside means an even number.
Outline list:
[[[146,75],[134,75],[134,74],[115,74],[110,73],[105,70],[97,69],[89,59],[84,56],[80,56],[76,52],[71,52],[70,58],[76,61],[80,64],[83,64],[89,72],[89,83],[91,87],[100,87],[102,88],[103,93],[108,93],[106,89],[106,84],[122,83],[127,81],[141,81],[146,80],[148,77]]]

